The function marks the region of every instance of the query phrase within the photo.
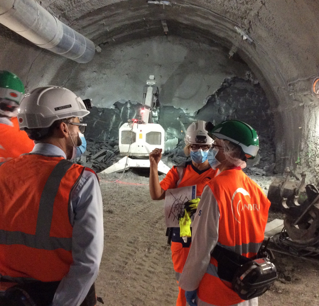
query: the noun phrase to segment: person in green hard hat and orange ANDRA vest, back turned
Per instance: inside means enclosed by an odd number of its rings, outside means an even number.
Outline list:
[[[192,245],[180,283],[190,306],[258,305],[242,300],[222,276],[223,267],[211,256],[216,245],[251,258],[259,250],[270,201],[260,186],[241,171],[259,149],[256,131],[238,120],[209,130],[219,147],[213,166],[220,174],[204,188],[193,223]]]

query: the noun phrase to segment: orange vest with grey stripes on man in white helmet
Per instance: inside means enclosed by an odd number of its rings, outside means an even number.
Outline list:
[[[63,157],[26,154],[0,166],[0,274],[60,281],[72,259],[68,204],[83,171]],[[92,170],[93,171],[93,170]]]

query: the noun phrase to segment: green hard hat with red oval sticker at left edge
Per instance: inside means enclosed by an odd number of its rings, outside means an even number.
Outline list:
[[[24,96],[24,85],[14,73],[0,70],[0,98],[20,104]]]

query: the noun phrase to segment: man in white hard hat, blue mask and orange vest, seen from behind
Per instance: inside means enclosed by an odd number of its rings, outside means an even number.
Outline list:
[[[13,281],[38,306],[94,306],[103,251],[95,172],[70,159],[85,150],[85,103],[55,86],[21,102],[29,154],[0,165],[0,281]],[[9,305],[10,301],[8,302]]]

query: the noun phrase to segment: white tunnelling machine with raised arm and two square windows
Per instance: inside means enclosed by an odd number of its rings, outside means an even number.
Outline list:
[[[155,148],[165,151],[165,131],[156,123],[160,106],[159,89],[154,76],[150,75],[144,86],[140,118],[129,120],[119,130],[120,155],[124,157],[100,173],[120,172],[129,168],[149,168],[150,152]],[[169,170],[170,167],[161,160],[158,171],[167,174]]]

